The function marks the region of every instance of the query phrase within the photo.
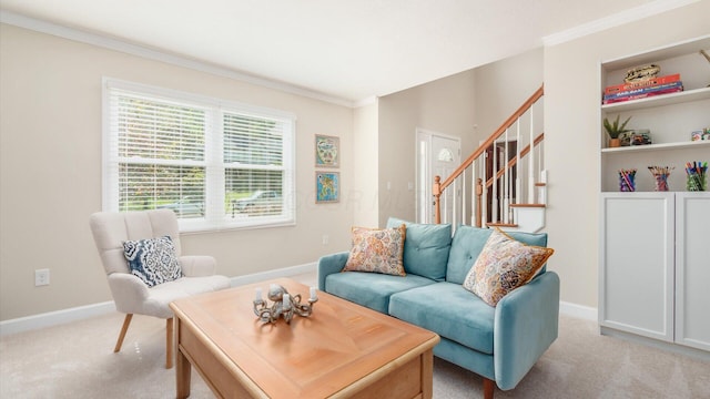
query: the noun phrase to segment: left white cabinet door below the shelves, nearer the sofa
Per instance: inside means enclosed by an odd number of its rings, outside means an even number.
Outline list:
[[[673,341],[673,197],[601,194],[601,326]]]

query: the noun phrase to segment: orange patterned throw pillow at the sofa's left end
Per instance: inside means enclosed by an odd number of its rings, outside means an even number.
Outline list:
[[[353,227],[353,248],[343,272],[371,272],[405,276],[404,239],[407,227]]]

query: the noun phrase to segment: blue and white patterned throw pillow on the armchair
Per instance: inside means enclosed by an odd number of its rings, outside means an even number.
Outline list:
[[[170,236],[126,241],[123,243],[123,255],[131,274],[149,287],[182,277],[175,245]]]

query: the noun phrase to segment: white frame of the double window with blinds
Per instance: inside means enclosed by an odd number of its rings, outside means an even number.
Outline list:
[[[119,164],[121,156],[118,145],[118,130],[113,127],[112,93],[125,92],[129,95],[169,102],[204,110],[204,160],[190,161],[190,165],[204,165],[204,217],[178,217],[180,232],[211,232],[221,229],[242,229],[290,226],[296,223],[295,212],[295,135],[296,116],[291,112],[247,105],[234,101],[211,98],[172,89],[134,83],[113,78],[102,78],[102,208],[104,212],[119,209]],[[234,217],[225,205],[226,171],[234,165],[224,160],[224,114],[239,114],[250,117],[273,120],[283,126],[282,165],[252,167],[253,171],[283,171],[282,211],[276,215],[243,215]],[[179,163],[179,162],[178,162]],[[202,166],[201,166],[202,167]]]

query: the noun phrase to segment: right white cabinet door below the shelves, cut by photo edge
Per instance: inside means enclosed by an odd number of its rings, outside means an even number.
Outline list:
[[[676,341],[710,350],[710,193],[676,193]]]

